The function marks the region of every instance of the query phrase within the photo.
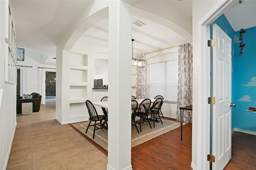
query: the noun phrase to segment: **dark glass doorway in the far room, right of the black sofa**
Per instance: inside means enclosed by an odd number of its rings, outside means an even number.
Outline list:
[[[56,72],[45,73],[45,103],[56,103]]]

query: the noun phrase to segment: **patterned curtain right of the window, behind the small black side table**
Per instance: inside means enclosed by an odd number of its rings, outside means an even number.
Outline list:
[[[180,107],[192,105],[193,58],[190,43],[179,45],[179,80],[177,121],[180,121]],[[192,123],[192,111],[184,110],[184,123]]]

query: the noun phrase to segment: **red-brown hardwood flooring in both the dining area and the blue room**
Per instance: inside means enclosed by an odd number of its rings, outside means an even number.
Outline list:
[[[133,170],[191,170],[192,125],[180,128],[132,148]],[[232,159],[224,170],[256,169],[256,135],[242,132],[232,134]]]

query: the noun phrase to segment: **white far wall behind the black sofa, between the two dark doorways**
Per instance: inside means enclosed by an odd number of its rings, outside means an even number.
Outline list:
[[[24,48],[24,47],[21,47]],[[41,58],[42,53],[38,53],[30,48],[24,48],[24,61],[17,61],[17,65],[21,66],[32,66],[28,67],[28,86],[27,86],[27,94],[31,94],[33,92],[38,93],[38,67],[44,68],[52,68],[46,69],[46,71],[56,71],[55,65],[45,65],[38,62],[38,58]],[[36,59],[37,58],[37,59]],[[22,94],[20,94],[22,95]]]

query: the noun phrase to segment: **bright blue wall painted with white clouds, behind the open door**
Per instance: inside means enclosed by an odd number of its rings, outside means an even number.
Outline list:
[[[242,34],[246,45],[240,57],[240,31],[234,32],[223,14],[214,23],[232,39],[232,129],[256,132],[256,113],[246,111],[256,107],[256,27]]]

